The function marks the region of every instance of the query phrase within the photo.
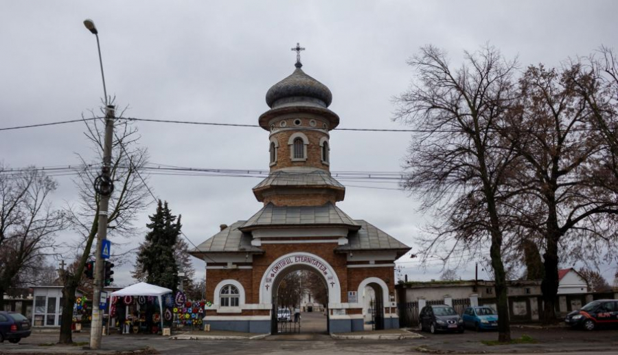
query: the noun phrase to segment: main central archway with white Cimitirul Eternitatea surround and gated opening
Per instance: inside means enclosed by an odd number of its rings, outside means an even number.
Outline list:
[[[341,286],[321,257],[290,253],[266,269],[260,301],[272,306],[271,334],[329,332],[329,304],[341,304]]]

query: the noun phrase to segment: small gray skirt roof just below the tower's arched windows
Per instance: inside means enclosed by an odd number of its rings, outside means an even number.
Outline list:
[[[288,172],[277,171],[268,174],[268,177],[261,183],[253,187],[259,190],[268,186],[333,186],[345,189],[339,181],[336,181],[330,172],[325,170],[314,170],[312,172]]]

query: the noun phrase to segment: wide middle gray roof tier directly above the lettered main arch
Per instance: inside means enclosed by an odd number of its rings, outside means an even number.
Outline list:
[[[250,231],[258,227],[298,225],[339,225],[347,226],[350,229],[361,227],[332,203],[326,203],[322,206],[299,207],[275,206],[268,203],[238,228],[243,231]]]

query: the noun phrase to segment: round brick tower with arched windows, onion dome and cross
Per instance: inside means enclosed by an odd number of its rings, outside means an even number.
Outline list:
[[[339,116],[330,111],[332,93],[301,68],[299,44],[295,71],[266,93],[270,110],[259,123],[270,133],[271,173],[253,188],[258,201],[275,206],[321,206],[343,201],[345,187],[330,175],[330,130]]]

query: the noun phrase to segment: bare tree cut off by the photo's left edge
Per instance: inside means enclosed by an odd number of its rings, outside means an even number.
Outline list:
[[[56,181],[36,168],[11,171],[0,165],[0,309],[4,291],[38,280],[54,234],[65,228],[49,195]]]

